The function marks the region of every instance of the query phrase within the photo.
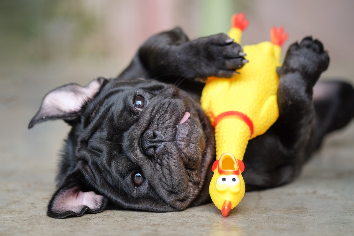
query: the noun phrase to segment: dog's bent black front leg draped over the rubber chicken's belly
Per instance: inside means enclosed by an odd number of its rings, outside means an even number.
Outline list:
[[[226,34],[189,41],[180,28],[149,38],[140,48],[135,61],[150,78],[231,77],[247,61],[242,47]]]

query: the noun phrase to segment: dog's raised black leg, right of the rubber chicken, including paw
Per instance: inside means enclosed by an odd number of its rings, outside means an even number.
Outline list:
[[[328,64],[321,42],[307,37],[289,47],[278,69],[279,118],[272,128],[288,150],[301,149],[310,142],[315,122],[313,86]]]

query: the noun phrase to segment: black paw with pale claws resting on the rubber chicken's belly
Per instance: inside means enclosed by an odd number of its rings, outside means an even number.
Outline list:
[[[232,77],[248,61],[243,48],[226,34],[195,40],[199,48],[199,73],[202,76]]]

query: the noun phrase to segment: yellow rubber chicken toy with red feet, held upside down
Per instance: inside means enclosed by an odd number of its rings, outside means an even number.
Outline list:
[[[235,14],[230,38],[240,43],[248,21]],[[276,98],[281,66],[281,45],[287,33],[281,27],[270,31],[271,42],[244,46],[249,62],[232,78],[208,77],[201,106],[215,128],[216,161],[209,186],[212,201],[226,217],[245,194],[242,162],[250,139],[263,134],[278,119]]]

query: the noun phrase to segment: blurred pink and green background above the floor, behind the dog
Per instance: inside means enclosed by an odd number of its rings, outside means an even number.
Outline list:
[[[350,0],[1,0],[0,76],[49,64],[59,65],[57,73],[93,66],[87,81],[115,76],[157,32],[177,25],[190,39],[227,32],[232,14],[245,12],[243,44],[268,40],[269,28],[283,25],[290,34],[284,48],[313,35],[331,56],[325,75],[353,78],[353,10]]]

